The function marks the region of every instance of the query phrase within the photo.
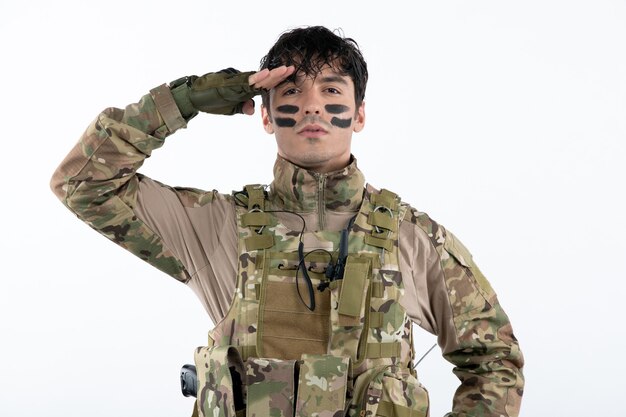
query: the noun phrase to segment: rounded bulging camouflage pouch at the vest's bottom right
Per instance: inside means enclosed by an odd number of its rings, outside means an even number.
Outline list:
[[[407,370],[375,368],[357,378],[350,416],[428,417],[428,392]]]

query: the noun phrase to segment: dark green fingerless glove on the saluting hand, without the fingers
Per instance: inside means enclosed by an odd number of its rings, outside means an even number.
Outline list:
[[[261,93],[248,82],[251,72],[239,72],[227,68],[219,72],[210,72],[202,77],[185,77],[170,84],[181,113],[188,112],[191,106],[195,111],[212,114],[242,113],[243,105],[252,97]],[[187,88],[181,91],[181,84]]]

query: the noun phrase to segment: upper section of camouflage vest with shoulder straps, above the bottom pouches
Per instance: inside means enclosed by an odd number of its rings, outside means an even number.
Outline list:
[[[370,360],[376,366],[408,364],[410,326],[398,303],[403,288],[397,261],[398,226],[406,206],[384,189],[363,195],[354,224],[345,233],[343,274],[334,278],[324,271],[338,264],[341,232],[307,231],[308,236],[301,236],[301,231],[287,229],[273,212],[264,211],[269,202],[263,186],[248,185],[236,195],[244,203],[237,207],[238,292],[228,320],[212,331],[218,345],[232,343],[244,358],[287,360],[301,353],[350,357],[357,373],[371,366]],[[299,255],[304,237],[319,242],[312,248],[327,250]],[[313,311],[301,299],[307,291],[303,262],[315,289]]]

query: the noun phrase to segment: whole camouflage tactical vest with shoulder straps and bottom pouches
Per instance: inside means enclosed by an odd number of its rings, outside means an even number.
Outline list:
[[[346,230],[305,232],[304,219],[302,230],[281,224],[261,186],[234,198],[237,286],[195,352],[198,415],[427,416],[399,303],[407,206],[365,191]]]

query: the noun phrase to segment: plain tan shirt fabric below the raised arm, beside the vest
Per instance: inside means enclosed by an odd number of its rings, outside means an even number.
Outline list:
[[[217,191],[164,186],[143,178],[137,217],[159,235],[189,271],[187,285],[214,323],[228,312],[237,276],[237,226],[232,199]]]

